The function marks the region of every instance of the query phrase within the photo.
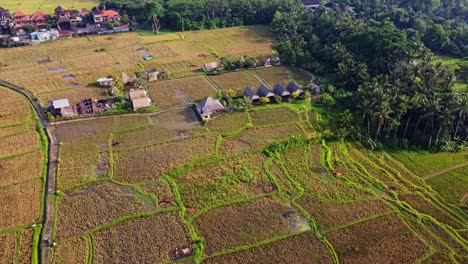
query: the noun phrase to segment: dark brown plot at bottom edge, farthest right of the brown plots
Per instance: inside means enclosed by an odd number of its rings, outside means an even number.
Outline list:
[[[395,215],[340,229],[327,237],[340,263],[410,263],[429,252]]]

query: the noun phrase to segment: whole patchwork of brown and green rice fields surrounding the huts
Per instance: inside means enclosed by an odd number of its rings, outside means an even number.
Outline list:
[[[58,158],[47,263],[466,263],[466,152],[328,139],[329,115],[305,100],[201,121],[193,103],[220,91],[308,84],[286,67],[200,71],[271,48],[267,27],[248,26],[0,50],[0,80],[44,105],[108,97],[96,79],[139,63],[168,76],[148,84],[155,113],[49,127]],[[1,88],[0,103],[0,263],[42,263],[47,145],[24,98]]]

